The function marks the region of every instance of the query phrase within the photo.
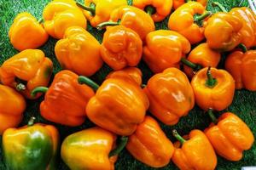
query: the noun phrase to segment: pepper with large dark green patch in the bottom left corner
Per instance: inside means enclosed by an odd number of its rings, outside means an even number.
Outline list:
[[[9,128],[3,133],[3,157],[7,169],[57,169],[58,130],[51,125],[33,124]]]

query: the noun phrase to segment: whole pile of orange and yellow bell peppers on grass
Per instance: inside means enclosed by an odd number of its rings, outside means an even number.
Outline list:
[[[20,53],[0,67],[0,135],[8,169],[57,169],[61,159],[71,169],[114,169],[126,148],[149,167],[171,161],[180,169],[213,170],[217,155],[240,161],[254,142],[239,113],[225,112],[235,90],[256,92],[256,15],[247,7],[221,12],[207,1],[184,0],[53,0],[42,20],[18,14],[9,40]],[[169,30],[154,22],[168,18]],[[104,30],[102,43],[89,31]],[[62,67],[37,49],[53,37]],[[225,70],[218,69],[222,54]],[[144,62],[154,73],[143,84]],[[90,79],[107,64],[113,69],[99,84]],[[51,81],[52,77],[52,81]],[[31,117],[19,127],[30,103],[43,97],[39,112],[67,127],[94,124],[61,141],[58,129]],[[26,98],[26,99],[25,99]],[[13,107],[15,105],[15,107]],[[206,129],[181,136],[172,126],[195,105],[209,115]],[[37,123],[36,123],[37,122]],[[172,143],[160,124],[172,128]],[[193,127],[194,128],[194,127]],[[61,143],[62,142],[62,143]]]

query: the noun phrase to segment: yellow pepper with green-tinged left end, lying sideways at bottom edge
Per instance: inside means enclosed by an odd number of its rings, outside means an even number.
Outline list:
[[[61,145],[61,158],[71,169],[113,170],[117,156],[108,157],[116,135],[100,127],[73,133]]]

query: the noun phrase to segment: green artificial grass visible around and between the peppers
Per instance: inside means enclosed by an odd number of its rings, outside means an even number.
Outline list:
[[[247,0],[217,0],[219,3],[224,4],[224,7],[227,9],[237,7],[239,4],[241,6],[247,6]],[[9,27],[11,26],[13,20],[15,19],[15,16],[19,14],[20,12],[27,11],[31,14],[35,15],[38,19],[41,18],[41,14],[43,11],[44,6],[49,2],[49,0],[0,0],[0,64],[3,63],[4,60],[9,59],[9,57],[15,55],[18,53],[12,45],[9,42],[8,37],[8,31]],[[129,3],[131,4],[131,0],[129,0]],[[212,12],[218,11],[218,8],[213,8],[212,0],[209,1],[207,9],[211,10]],[[167,21],[168,19],[164,20],[161,23],[157,23],[156,27],[157,29],[167,29]],[[102,34],[103,31],[96,31],[96,29],[88,26],[88,31],[92,33],[99,42],[102,42]],[[58,64],[57,60],[55,59],[55,53],[54,53],[54,47],[55,47],[55,39],[50,38],[49,41],[42,47],[41,49],[44,51],[46,56],[48,56],[50,59],[54,62],[54,73],[61,71],[61,67]],[[223,56],[223,60],[218,65],[218,68],[223,68],[224,64],[224,58],[225,54]],[[146,83],[148,78],[152,76],[152,72],[148,69],[147,65],[145,65],[143,62],[138,65],[139,68],[143,71],[143,82]],[[104,65],[100,71],[96,73],[95,76],[93,76],[93,80],[95,80],[98,83],[101,83],[104,80],[104,77],[108,74],[108,72],[111,71],[107,65]],[[39,113],[39,104],[44,99],[44,97],[37,99],[37,100],[31,100],[27,101],[27,108],[24,113],[24,119],[23,122],[21,122],[20,126],[23,126],[26,124],[28,119],[31,116],[37,117],[37,122],[44,122],[53,124],[56,127],[58,127],[60,133],[61,133],[61,141],[67,137],[67,135],[71,133],[78,132],[79,130],[82,130],[86,127],[93,127],[93,123],[90,121],[84,122],[84,124],[80,127],[65,127],[61,125],[56,125],[52,122],[47,122],[40,116]],[[244,122],[247,123],[247,125],[252,129],[254,136],[256,136],[256,122],[255,122],[255,116],[256,116],[256,93],[249,92],[247,90],[239,90],[236,91],[236,95],[234,98],[234,102],[230,107],[225,111],[231,111],[236,113],[237,116],[241,117]],[[224,111],[222,111],[224,112]],[[149,114],[149,113],[148,113]],[[218,115],[220,115],[219,113]],[[2,123],[2,122],[0,122]],[[161,127],[165,131],[168,138],[172,140],[172,142],[176,141],[172,137],[172,129],[177,129],[179,133],[186,134],[189,133],[192,129],[198,128],[198,129],[205,129],[210,123],[210,118],[204,114],[203,111],[197,106],[189,112],[188,116],[183,117],[180,122],[177,123],[175,126],[165,126],[162,123],[160,123]],[[0,146],[1,139],[0,136]],[[243,166],[256,166],[256,146],[253,144],[253,148],[251,150],[247,150],[244,152],[244,156],[241,161],[237,162],[231,162],[226,161],[223,158],[218,156],[218,167],[217,169],[241,169]],[[143,163],[135,160],[129,153],[124,150],[121,154],[119,154],[119,159],[115,164],[116,169],[154,169],[151,167],[147,167]],[[0,170],[6,169],[3,164],[3,154],[0,147]],[[63,161],[61,161],[61,158],[59,160],[59,167],[58,169],[68,169],[68,167],[64,164]],[[177,169],[177,167],[174,166],[172,162],[169,163],[168,166],[163,167],[161,169]]]

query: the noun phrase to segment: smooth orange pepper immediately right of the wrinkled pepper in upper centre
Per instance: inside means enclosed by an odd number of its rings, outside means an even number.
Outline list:
[[[154,73],[158,73],[169,67],[179,68],[179,61],[189,51],[189,41],[176,31],[153,31],[146,37],[143,60]]]

